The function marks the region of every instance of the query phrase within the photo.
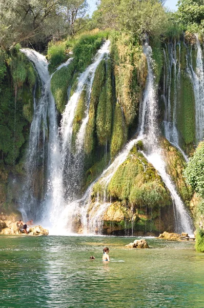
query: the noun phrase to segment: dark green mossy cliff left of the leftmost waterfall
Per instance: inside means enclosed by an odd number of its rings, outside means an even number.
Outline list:
[[[5,56],[7,71],[0,91],[0,152],[1,160],[14,165],[21,156],[28,138],[33,115],[33,88],[36,73],[27,57],[12,49]]]

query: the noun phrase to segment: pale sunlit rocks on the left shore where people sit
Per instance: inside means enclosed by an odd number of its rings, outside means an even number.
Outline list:
[[[0,234],[4,235],[25,235],[21,233],[16,226],[16,222],[12,221],[3,221],[0,220]],[[28,235],[48,235],[49,232],[47,229],[44,229],[42,226],[32,226],[28,229]]]

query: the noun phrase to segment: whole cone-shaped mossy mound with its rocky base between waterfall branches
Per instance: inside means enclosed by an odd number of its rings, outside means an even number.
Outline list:
[[[173,207],[171,196],[157,171],[132,148],[127,160],[121,164],[108,186],[103,178],[93,186],[92,209],[97,211],[103,204],[104,191],[111,204],[103,213],[105,234],[157,234],[160,230],[173,230]],[[101,201],[98,201],[98,196]],[[98,203],[97,203],[98,202]],[[96,230],[97,231],[97,230]]]

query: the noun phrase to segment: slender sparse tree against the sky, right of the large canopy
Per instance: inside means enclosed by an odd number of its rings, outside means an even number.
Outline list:
[[[62,1],[62,13],[65,28],[69,35],[74,36],[86,27],[86,14],[89,9],[87,0],[64,0]]]

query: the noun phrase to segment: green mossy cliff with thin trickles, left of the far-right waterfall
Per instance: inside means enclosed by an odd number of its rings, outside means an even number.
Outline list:
[[[188,67],[188,62],[192,62],[195,71],[197,50],[195,45],[191,45],[187,41],[185,42],[183,37],[180,38],[180,41],[169,40],[162,47],[166,54],[166,62],[161,69],[162,73],[160,74],[159,82],[162,120],[164,120],[165,112],[167,112],[167,110],[165,110],[164,100],[162,99],[164,88],[167,86],[165,90],[165,92],[167,91],[167,93],[165,93],[165,99],[168,105],[170,100],[171,110],[169,117],[171,121],[174,121],[178,130],[179,146],[189,154],[196,140],[195,97],[193,83],[189,74],[190,69]],[[190,54],[192,54],[192,59]],[[176,64],[172,62],[172,57]],[[171,70],[169,71],[170,64]]]

